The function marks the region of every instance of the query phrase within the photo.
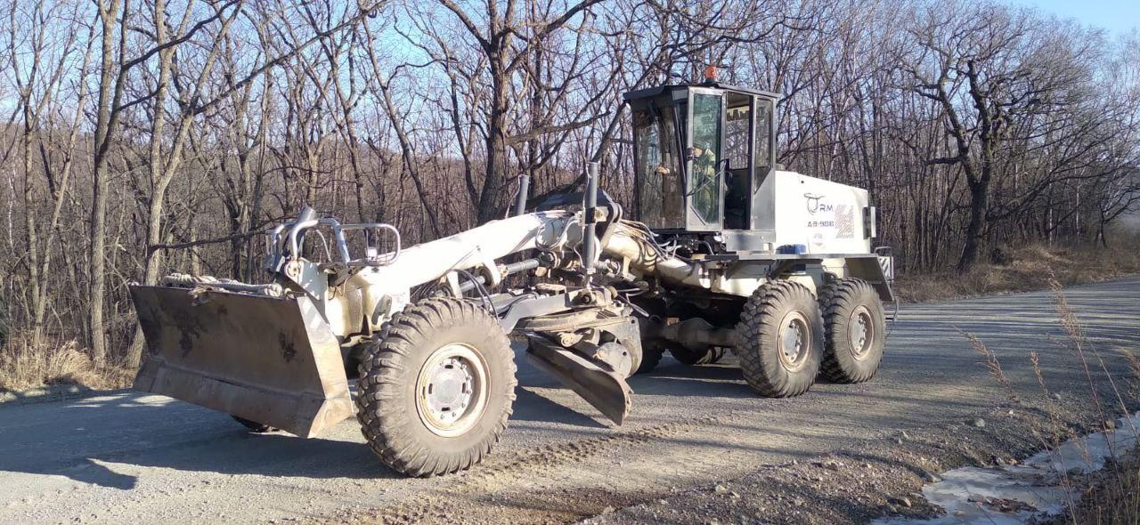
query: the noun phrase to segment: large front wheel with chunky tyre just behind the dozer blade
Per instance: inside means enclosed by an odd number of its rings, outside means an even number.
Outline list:
[[[474,304],[431,298],[406,307],[360,363],[357,418],[385,465],[427,477],[470,468],[506,428],[514,353]]]

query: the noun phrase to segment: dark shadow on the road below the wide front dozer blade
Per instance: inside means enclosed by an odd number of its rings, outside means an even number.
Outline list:
[[[363,443],[250,434],[229,416],[181,402],[140,402],[124,393],[76,401],[39,421],[50,405],[8,409],[0,420],[0,470],[65,476],[129,490],[144,468],[306,478],[392,478]],[[15,418],[10,413],[18,412]],[[15,419],[9,425],[7,419]],[[65,423],[60,424],[59,420]]]

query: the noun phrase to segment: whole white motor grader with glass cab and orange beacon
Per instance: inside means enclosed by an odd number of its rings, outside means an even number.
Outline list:
[[[147,342],[135,388],[310,437],[356,415],[410,476],[488,454],[519,354],[620,425],[627,378],[665,352],[735,354],[760,395],[870,379],[894,301],[868,192],[782,171],[773,93],[709,80],[625,95],[634,199],[598,189],[401,247],[389,224],[304,208],[267,232],[253,285],[172,274],[130,286]],[[350,388],[355,379],[355,395]]]

